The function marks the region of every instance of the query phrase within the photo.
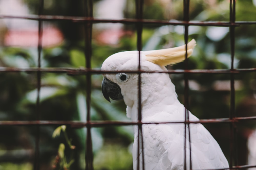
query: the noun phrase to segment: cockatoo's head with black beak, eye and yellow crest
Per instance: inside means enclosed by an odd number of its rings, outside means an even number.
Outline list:
[[[187,56],[189,57],[196,41],[193,39],[187,44]],[[142,71],[166,71],[165,67],[169,64],[175,64],[185,59],[185,45],[152,51],[140,51],[140,68]],[[112,74],[103,74],[102,93],[105,99],[124,101],[127,106],[132,105],[136,100],[138,90],[138,73],[125,73],[125,71],[138,71],[139,52],[124,51],[115,53],[109,56],[102,64],[102,71],[115,71]],[[168,74],[161,73],[142,73],[141,87],[147,92],[153,92],[154,88],[161,88],[161,83],[158,82],[159,77],[165,76],[169,81]],[[160,80],[159,80],[160,81]],[[142,91],[142,94],[143,91]],[[147,95],[143,95],[146,98]],[[142,101],[143,101],[142,98]]]

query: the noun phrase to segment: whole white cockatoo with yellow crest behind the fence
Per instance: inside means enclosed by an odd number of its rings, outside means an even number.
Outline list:
[[[189,57],[196,41],[187,44]],[[185,59],[186,46],[175,48],[140,51],[140,68],[143,71],[163,72],[165,66],[181,62]],[[138,102],[141,101],[142,133],[138,133],[138,126],[134,125],[133,168],[142,168],[142,153],[144,153],[145,170],[176,170],[184,169],[185,154],[186,168],[215,169],[229,168],[219,144],[202,124],[162,123],[185,121],[185,107],[177,99],[175,86],[167,73],[141,73],[141,100],[138,98],[138,51],[124,51],[109,56],[102,64],[102,71],[116,71],[116,74],[103,74],[102,93],[110,101],[124,99],[127,105],[126,113],[133,122],[138,121]],[[190,121],[199,119],[189,112]],[[160,124],[153,124],[160,122]],[[190,143],[189,133],[190,131]],[[140,134],[140,135],[138,135]],[[142,135],[141,135],[142,134]],[[142,145],[139,145],[143,136]],[[186,146],[185,145],[186,140]],[[191,147],[191,148],[190,148]],[[190,158],[191,149],[191,158]],[[185,151],[186,150],[186,151]]]

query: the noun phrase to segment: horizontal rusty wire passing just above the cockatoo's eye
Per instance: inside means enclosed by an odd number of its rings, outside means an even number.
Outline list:
[[[16,68],[16,67],[0,67],[0,72],[51,72],[51,73],[67,73],[67,74],[114,74],[117,72],[124,72],[124,73],[173,73],[173,74],[182,74],[182,73],[240,73],[240,72],[254,72],[256,68],[249,68],[249,69],[194,69],[194,70],[168,70],[168,71],[129,71],[129,70],[119,70],[119,71],[102,71],[100,69],[87,69],[87,68]]]

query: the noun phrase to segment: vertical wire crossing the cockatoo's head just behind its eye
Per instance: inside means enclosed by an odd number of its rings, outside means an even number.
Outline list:
[[[143,0],[136,1],[136,19],[143,18]],[[137,170],[140,169],[140,146],[142,148],[142,169],[145,169],[145,162],[144,162],[144,146],[143,146],[143,133],[142,133],[142,113],[141,113],[141,50],[142,50],[142,28],[143,24],[142,21],[137,23],[137,50],[138,50],[138,143],[137,143]],[[141,137],[141,143],[140,143]],[[141,145],[140,145],[141,144]]]

